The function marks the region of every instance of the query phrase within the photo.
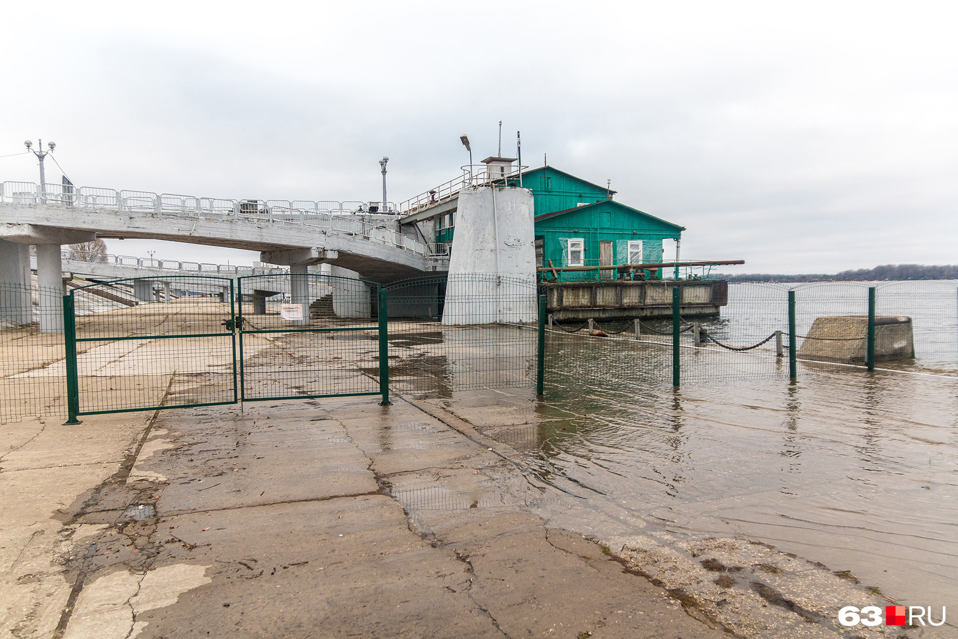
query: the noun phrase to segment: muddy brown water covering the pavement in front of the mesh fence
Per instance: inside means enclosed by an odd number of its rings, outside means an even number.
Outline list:
[[[577,369],[550,374],[543,421],[511,442],[551,482],[650,527],[851,570],[902,604],[958,605],[958,380],[824,371],[673,393]]]

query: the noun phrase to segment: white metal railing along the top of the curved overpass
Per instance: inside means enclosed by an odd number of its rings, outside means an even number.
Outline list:
[[[114,191],[95,187],[75,187],[34,182],[0,182],[0,202],[9,204],[43,204],[72,208],[110,209],[119,212],[140,212],[154,215],[171,214],[185,217],[243,219],[256,222],[296,224],[320,229],[326,233],[345,233],[365,240],[378,241],[425,256],[426,245],[392,229],[376,226],[369,219],[355,217],[376,213],[382,202],[257,200],[195,197],[181,194],[154,194],[145,191]],[[395,214],[395,203],[386,203],[387,215]]]

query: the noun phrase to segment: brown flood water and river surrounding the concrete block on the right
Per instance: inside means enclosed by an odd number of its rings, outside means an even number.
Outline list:
[[[762,366],[683,348],[691,375],[675,391],[666,348],[549,333],[541,422],[493,436],[647,529],[764,541],[901,605],[958,605],[958,299],[953,283],[906,284],[878,295],[879,314],[915,323],[916,359],[884,366],[901,372],[800,362],[789,383],[771,345],[747,355]],[[849,304],[841,286],[806,290],[799,333],[867,312],[867,286]],[[787,286],[732,285],[729,298],[712,321],[726,338],[787,330]]]

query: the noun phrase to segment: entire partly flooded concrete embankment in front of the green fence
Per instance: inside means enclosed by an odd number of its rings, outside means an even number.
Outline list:
[[[407,360],[446,348],[405,341]],[[600,361],[550,367],[543,400],[454,392],[486,364],[444,364],[441,392],[390,407],[16,425],[8,636],[784,639],[845,634],[842,605],[953,604],[954,380],[826,368],[674,392]],[[290,393],[302,379],[270,376]],[[901,633],[958,636],[846,636]]]

